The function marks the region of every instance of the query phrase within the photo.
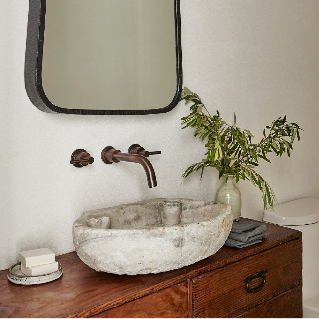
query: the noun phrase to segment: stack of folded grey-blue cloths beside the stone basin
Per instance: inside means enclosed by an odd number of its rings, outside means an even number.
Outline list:
[[[225,246],[243,248],[256,244],[267,235],[266,230],[266,225],[259,224],[257,221],[234,222]]]

